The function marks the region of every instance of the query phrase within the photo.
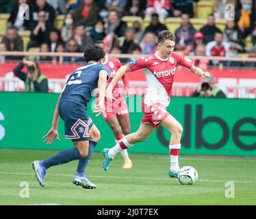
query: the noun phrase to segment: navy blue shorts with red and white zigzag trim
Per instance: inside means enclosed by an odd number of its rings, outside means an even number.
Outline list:
[[[58,105],[58,112],[65,123],[65,138],[73,142],[89,140],[93,122],[86,114],[86,107],[65,101]]]

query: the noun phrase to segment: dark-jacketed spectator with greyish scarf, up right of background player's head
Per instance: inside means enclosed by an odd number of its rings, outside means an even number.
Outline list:
[[[105,23],[105,34],[114,33],[117,37],[125,36],[127,25],[121,20],[121,14],[117,10],[108,12],[107,22]]]

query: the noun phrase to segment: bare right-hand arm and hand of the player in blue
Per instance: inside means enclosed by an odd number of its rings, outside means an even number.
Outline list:
[[[105,70],[101,70],[99,73],[98,88],[99,103],[93,106],[95,108],[94,113],[97,113],[96,116],[99,116],[101,114],[104,106],[105,90],[107,88],[107,72]]]

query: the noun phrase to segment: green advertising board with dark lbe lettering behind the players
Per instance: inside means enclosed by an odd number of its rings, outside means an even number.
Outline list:
[[[64,125],[59,124],[60,142],[46,146],[42,136],[51,128],[58,94],[0,92],[0,148],[62,150],[73,146],[64,139]],[[92,100],[94,101],[94,100]],[[141,96],[126,99],[131,130],[136,131],[143,113]],[[90,104],[89,104],[90,105]],[[183,126],[183,155],[256,156],[256,100],[172,97],[168,112]],[[114,135],[102,116],[94,124],[101,131],[95,151],[114,146]],[[159,127],[145,141],[133,146],[131,153],[166,153],[170,133]]]

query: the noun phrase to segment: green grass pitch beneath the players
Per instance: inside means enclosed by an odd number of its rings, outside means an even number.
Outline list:
[[[133,168],[123,170],[118,155],[105,172],[101,153],[94,153],[86,170],[98,187],[85,190],[72,183],[77,161],[47,170],[46,187],[36,181],[31,162],[57,151],[0,150],[0,205],[255,205],[256,159],[180,156],[180,166],[194,166],[196,185],[180,185],[168,177],[169,156],[131,154]],[[21,198],[23,185],[29,198]],[[225,194],[233,181],[234,197]],[[226,186],[225,186],[226,185]]]

